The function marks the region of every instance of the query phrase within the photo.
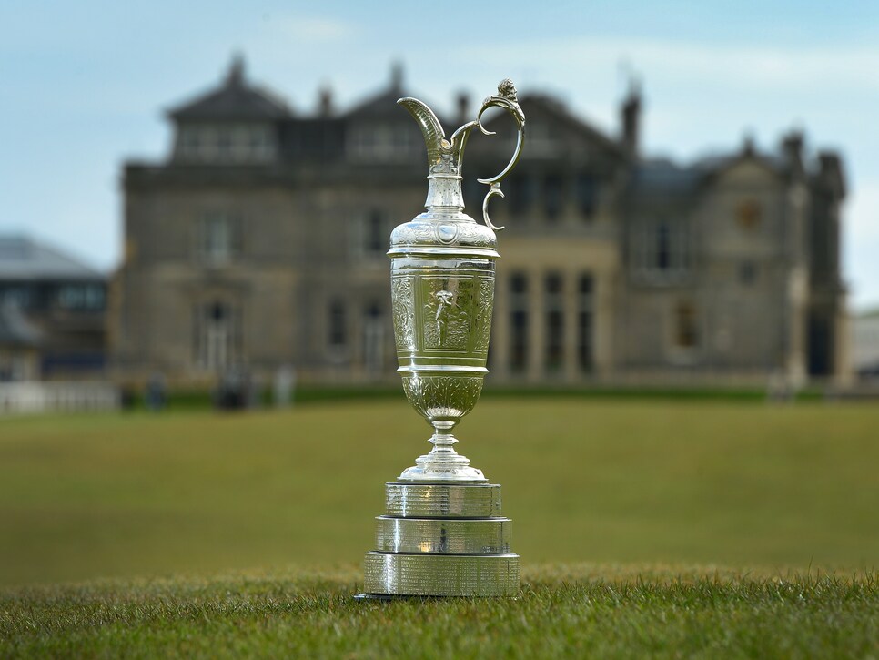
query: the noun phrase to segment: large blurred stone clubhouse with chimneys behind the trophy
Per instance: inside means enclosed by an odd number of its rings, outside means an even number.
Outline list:
[[[209,381],[292,365],[309,381],[394,378],[389,233],[422,208],[424,145],[399,68],[345,112],[252,85],[242,62],[168,113],[165,162],[124,172],[111,296],[116,376]],[[801,134],[680,165],[642,154],[641,98],[605,135],[526,95],[520,164],[491,202],[502,259],[490,378],[504,382],[840,378],[840,158]],[[460,97],[447,131],[475,108]],[[473,137],[464,196],[502,166],[513,125]]]

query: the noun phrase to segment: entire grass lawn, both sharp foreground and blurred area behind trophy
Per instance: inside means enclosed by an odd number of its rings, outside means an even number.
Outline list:
[[[355,604],[382,484],[429,447],[405,401],[0,420],[0,656],[879,655],[877,429],[482,401],[459,447],[522,597]]]

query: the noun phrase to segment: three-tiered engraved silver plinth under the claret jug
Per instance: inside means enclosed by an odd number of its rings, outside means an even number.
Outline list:
[[[510,553],[500,486],[392,482],[364,559],[364,596],[513,596],[519,555]]]

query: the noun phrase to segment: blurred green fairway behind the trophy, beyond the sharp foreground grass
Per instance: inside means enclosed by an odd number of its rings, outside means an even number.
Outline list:
[[[458,445],[546,562],[874,570],[879,408],[488,400]],[[0,584],[359,561],[405,401],[0,421]]]

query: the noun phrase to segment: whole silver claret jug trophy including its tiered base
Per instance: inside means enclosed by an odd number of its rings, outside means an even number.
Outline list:
[[[406,398],[433,427],[433,449],[386,485],[376,549],[366,553],[362,597],[498,596],[519,591],[519,555],[510,553],[510,519],[500,514],[500,485],[455,451],[455,425],[473,410],[488,370],[498,241],[488,204],[519,161],[525,116],[503,80],[476,119],[450,139],[415,98],[398,104],[419,123],[428,150],[427,211],[390,236],[391,299],[399,373]],[[461,158],[470,131],[490,107],[518,125],[515,152],[482,202],[485,225],[464,213]]]

